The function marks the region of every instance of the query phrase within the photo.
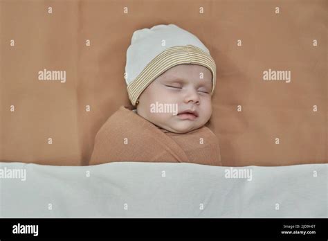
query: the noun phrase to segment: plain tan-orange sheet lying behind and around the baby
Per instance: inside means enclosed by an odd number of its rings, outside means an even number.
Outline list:
[[[96,132],[129,105],[123,74],[134,30],[176,24],[217,63],[209,127],[225,166],[328,163],[325,0],[0,0],[0,7],[0,161],[85,165]],[[66,82],[38,80],[44,69],[66,71]],[[264,81],[268,69],[291,71],[291,82]]]

